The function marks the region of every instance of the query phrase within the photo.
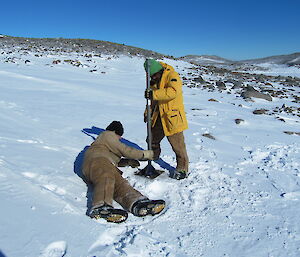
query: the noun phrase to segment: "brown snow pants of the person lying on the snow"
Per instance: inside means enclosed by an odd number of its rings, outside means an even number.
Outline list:
[[[101,206],[104,203],[112,206],[115,200],[125,210],[130,211],[134,202],[146,198],[135,190],[122,177],[122,172],[106,158],[94,159],[83,172],[94,187],[92,206]]]

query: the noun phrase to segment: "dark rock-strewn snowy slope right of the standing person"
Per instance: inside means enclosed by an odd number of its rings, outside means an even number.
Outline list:
[[[275,101],[285,99],[284,105],[276,105],[272,109],[257,109],[253,113],[257,115],[272,115],[276,119],[285,122],[280,116],[300,117],[300,78],[291,76],[268,76],[264,74],[251,74],[247,71],[233,71],[216,66],[195,65],[188,76],[183,77],[188,87],[219,91],[224,94],[234,94],[245,101],[264,99]],[[214,101],[214,99],[211,99]]]

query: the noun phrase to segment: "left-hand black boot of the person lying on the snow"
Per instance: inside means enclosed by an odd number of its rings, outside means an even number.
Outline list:
[[[92,219],[103,218],[107,222],[121,223],[128,217],[128,213],[121,209],[115,209],[114,207],[104,204],[99,207],[93,207],[90,211],[90,217]]]

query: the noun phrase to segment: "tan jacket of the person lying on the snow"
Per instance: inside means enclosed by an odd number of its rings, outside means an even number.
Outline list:
[[[122,157],[130,159],[143,159],[142,150],[129,147],[120,142],[119,136],[114,131],[102,132],[91,146],[86,150],[83,160],[83,173],[87,175],[96,159],[104,157],[117,166]]]

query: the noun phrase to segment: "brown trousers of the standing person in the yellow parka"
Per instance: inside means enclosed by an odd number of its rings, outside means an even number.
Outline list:
[[[160,142],[165,137],[164,130],[161,124],[160,116],[158,116],[152,132],[152,150],[154,151],[154,159],[158,159],[161,153]],[[189,158],[186,151],[183,132],[167,136],[167,139],[176,154],[176,170],[188,172]]]

